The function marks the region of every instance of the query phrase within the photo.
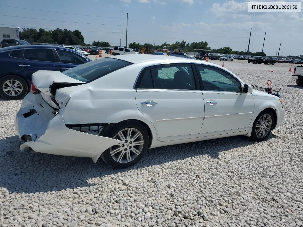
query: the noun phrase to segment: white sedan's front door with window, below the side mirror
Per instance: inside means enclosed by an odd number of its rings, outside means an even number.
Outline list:
[[[200,136],[245,131],[252,119],[252,94],[242,92],[241,83],[227,71],[198,65],[202,79],[205,117]]]

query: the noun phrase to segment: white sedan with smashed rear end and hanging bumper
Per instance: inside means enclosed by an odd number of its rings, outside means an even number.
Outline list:
[[[33,74],[15,118],[20,150],[99,157],[114,168],[159,146],[245,135],[265,140],[282,124],[277,96],[195,59],[119,55]]]

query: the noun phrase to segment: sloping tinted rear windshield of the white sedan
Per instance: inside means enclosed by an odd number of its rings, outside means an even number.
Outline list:
[[[62,73],[78,81],[90,82],[131,64],[115,58],[102,58],[68,69]]]

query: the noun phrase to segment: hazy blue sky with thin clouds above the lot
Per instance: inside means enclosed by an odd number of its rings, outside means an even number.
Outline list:
[[[284,2],[303,2],[285,0]],[[303,12],[247,12],[245,0],[1,0],[0,26],[78,29],[85,43],[108,41],[111,45],[138,42],[161,45],[185,40],[206,41],[211,48],[262,51],[276,56],[303,54]],[[283,2],[254,0],[251,2]],[[302,4],[303,5],[303,4]],[[8,7],[10,6],[10,7]],[[25,9],[26,8],[26,9]]]

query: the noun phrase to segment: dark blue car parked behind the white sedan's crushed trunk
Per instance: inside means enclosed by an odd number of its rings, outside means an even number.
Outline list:
[[[18,45],[0,48],[0,95],[23,98],[38,70],[65,71],[92,61],[76,51],[51,45]]]

